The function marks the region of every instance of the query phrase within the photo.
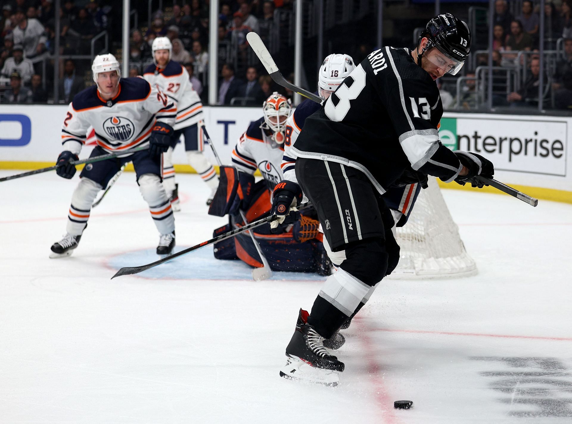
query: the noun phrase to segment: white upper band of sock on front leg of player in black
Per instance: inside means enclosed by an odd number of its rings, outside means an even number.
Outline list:
[[[370,286],[339,268],[325,280],[319,296],[351,316],[370,291]]]

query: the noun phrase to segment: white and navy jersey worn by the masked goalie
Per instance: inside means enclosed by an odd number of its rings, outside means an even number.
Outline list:
[[[273,190],[283,179],[280,162],[284,149],[271,140],[271,130],[261,128],[263,125],[264,117],[250,123],[232,150],[232,163],[239,171],[251,175],[259,169],[268,188]]]

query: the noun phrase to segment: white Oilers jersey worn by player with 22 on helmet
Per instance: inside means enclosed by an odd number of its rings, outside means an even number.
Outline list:
[[[176,104],[142,78],[121,78],[119,92],[103,100],[94,85],[78,93],[62,126],[63,150],[80,154],[93,126],[96,143],[110,153],[148,144],[153,125],[173,126]]]

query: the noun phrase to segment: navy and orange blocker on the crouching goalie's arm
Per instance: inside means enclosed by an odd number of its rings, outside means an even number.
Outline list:
[[[238,172],[235,167],[220,167],[219,187],[209,207],[209,215],[234,214],[239,208],[250,204],[254,176]]]

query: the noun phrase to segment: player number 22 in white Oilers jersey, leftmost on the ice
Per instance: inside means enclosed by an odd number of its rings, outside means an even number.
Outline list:
[[[96,56],[92,73],[96,85],[78,93],[67,108],[61,135],[63,151],[57,160],[63,166],[57,168],[58,175],[71,179],[76,173],[69,162],[78,159],[90,125],[97,142],[90,157],[145,145],[149,149],[85,166],[72,195],[67,233],[51,246],[50,257],[72,254],[88,225],[97,192],[130,161],[160,233],[157,254],[169,254],[175,244],[175,227],[169,197],[161,184],[161,156],[169,147],[176,104],[142,78],[121,78],[120,64],[112,54]]]

